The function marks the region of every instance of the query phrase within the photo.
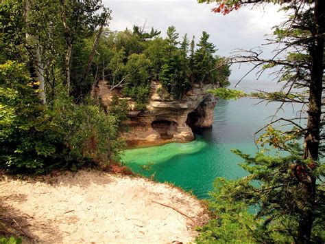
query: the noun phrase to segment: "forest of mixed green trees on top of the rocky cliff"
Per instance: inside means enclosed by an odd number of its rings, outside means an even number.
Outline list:
[[[230,70],[216,56],[215,45],[202,33],[195,48],[195,39],[187,34],[179,38],[176,27],[167,29],[166,38],[152,27],[150,32],[134,25],[133,30],[105,30],[93,63],[93,74],[101,74],[113,87],[121,85],[125,96],[139,105],[149,96],[149,85],[158,80],[171,98],[182,98],[193,83],[228,85]],[[218,65],[221,64],[221,65]]]

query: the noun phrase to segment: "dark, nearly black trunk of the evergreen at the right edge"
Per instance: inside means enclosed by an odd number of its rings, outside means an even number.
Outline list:
[[[304,156],[303,159],[311,159],[311,170],[315,170],[318,162],[320,148],[320,129],[322,115],[322,80],[323,80],[323,56],[324,56],[324,10],[325,1],[315,1],[315,41],[310,49],[312,58],[311,82],[309,86],[309,111],[307,121],[307,131],[304,135]],[[309,243],[311,239],[311,229],[313,228],[315,206],[316,179],[309,175],[309,182],[304,184],[306,194],[306,211],[300,217],[298,228],[298,242]]]

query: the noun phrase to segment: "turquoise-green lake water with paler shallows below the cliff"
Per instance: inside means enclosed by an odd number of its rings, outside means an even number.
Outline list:
[[[243,91],[254,87],[265,91],[276,90],[274,82],[243,82]],[[238,164],[241,157],[230,150],[238,148],[243,153],[254,154],[254,133],[271,120],[280,103],[259,103],[261,100],[241,98],[218,100],[211,129],[196,131],[196,140],[189,143],[171,143],[149,148],[126,150],[122,156],[136,173],[147,177],[154,174],[156,181],[169,181],[184,190],[192,190],[199,198],[208,198],[216,177],[237,179],[246,175]],[[276,118],[296,117],[300,109],[286,105],[278,111]],[[149,164],[149,170],[143,165]]]

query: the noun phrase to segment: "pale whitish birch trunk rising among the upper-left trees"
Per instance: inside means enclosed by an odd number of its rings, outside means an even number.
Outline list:
[[[25,23],[28,25],[29,22],[29,14],[30,8],[32,5],[31,0],[25,0]],[[31,67],[29,67],[31,77],[35,82],[38,82],[39,93],[38,96],[40,98],[40,102],[42,104],[46,104],[46,96],[45,96],[45,81],[44,81],[44,66],[42,63],[42,58],[40,56],[40,45],[36,36],[29,34],[26,32],[26,41],[27,45],[31,48]]]

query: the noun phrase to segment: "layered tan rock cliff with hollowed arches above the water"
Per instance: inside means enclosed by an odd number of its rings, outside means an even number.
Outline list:
[[[167,142],[190,142],[194,140],[192,129],[210,127],[213,123],[213,109],[216,98],[206,93],[215,85],[194,84],[180,100],[162,98],[158,95],[161,85],[152,82],[151,95],[145,111],[131,110],[128,113],[128,132],[124,133],[130,146],[156,145]],[[95,90],[105,106],[109,106],[112,96],[120,96],[119,88],[99,83]],[[130,98],[130,107],[134,102]]]

